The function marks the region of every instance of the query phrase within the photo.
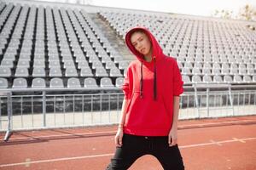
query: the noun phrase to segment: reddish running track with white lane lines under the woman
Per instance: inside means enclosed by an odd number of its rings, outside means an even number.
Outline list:
[[[0,170],[102,170],[113,156],[116,127],[15,132],[0,141]],[[256,116],[180,121],[178,144],[186,170],[255,170]],[[3,139],[4,133],[0,133]],[[160,170],[143,156],[131,170]]]

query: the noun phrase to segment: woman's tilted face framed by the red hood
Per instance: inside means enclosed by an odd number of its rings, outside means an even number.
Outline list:
[[[141,31],[134,32],[131,35],[131,44],[140,54],[143,54],[144,56],[151,56],[151,42],[145,33]]]

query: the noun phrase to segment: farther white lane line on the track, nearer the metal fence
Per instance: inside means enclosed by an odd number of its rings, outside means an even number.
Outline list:
[[[189,124],[189,125],[180,125],[178,128],[185,128],[185,127],[205,127],[211,125],[224,125],[227,123],[239,123],[239,122],[256,122],[256,120],[241,120],[241,121],[227,121],[227,122],[209,122],[209,123],[201,123],[201,124]],[[97,135],[97,134],[111,134],[116,133],[116,131],[100,131],[100,132],[93,132],[93,133],[70,133],[70,134],[53,134],[53,135],[45,135],[45,136],[38,136],[38,137],[18,137],[18,138],[11,138],[9,141],[20,140],[20,139],[47,139],[47,138],[58,138],[58,137],[68,137],[68,136],[86,136],[86,135]]]

